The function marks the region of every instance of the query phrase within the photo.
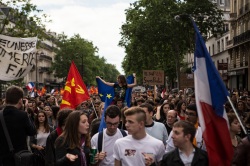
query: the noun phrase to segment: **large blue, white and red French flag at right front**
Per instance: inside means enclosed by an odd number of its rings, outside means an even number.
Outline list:
[[[224,103],[228,91],[207,51],[204,39],[192,20],[196,34],[194,80],[199,123],[210,166],[229,166],[233,148]]]

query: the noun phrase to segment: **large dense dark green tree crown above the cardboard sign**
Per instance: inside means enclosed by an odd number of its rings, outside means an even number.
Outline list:
[[[126,10],[121,27],[125,73],[136,72],[141,78],[143,70],[164,70],[170,80],[176,79],[183,55],[194,43],[190,20],[175,20],[180,14],[190,14],[204,34],[221,30],[222,14],[208,0],[138,0]]]

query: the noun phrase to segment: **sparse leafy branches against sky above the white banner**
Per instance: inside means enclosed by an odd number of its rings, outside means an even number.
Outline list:
[[[50,22],[48,16],[42,13],[31,0],[9,0],[4,7],[5,19],[1,21],[0,33],[13,37],[35,37],[42,39],[45,34],[44,22]],[[11,26],[10,26],[11,25]]]

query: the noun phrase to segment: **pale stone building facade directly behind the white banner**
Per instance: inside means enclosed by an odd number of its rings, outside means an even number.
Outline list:
[[[5,31],[6,28],[15,27],[15,19],[12,16],[13,13],[9,13],[10,7],[0,4],[0,29]],[[2,22],[6,17],[9,17],[9,22],[6,26],[3,26]],[[64,86],[63,79],[59,79],[54,75],[51,69],[52,63],[55,57],[55,40],[57,39],[57,34],[54,32],[44,32],[46,35],[45,39],[39,40],[39,45],[37,45],[36,62],[29,74],[27,74],[23,79],[24,89],[28,82],[33,82],[36,84],[36,88],[40,89],[46,87],[47,92],[52,89],[59,89]],[[1,84],[0,84],[0,87]],[[0,88],[1,93],[6,87]],[[1,96],[1,95],[0,95]]]

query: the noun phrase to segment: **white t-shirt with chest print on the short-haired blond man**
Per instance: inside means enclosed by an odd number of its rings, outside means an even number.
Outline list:
[[[162,141],[146,135],[146,137],[136,140],[132,135],[120,138],[115,142],[114,158],[121,161],[122,166],[141,166],[145,165],[142,153],[152,155],[155,162],[162,160],[165,147]]]

